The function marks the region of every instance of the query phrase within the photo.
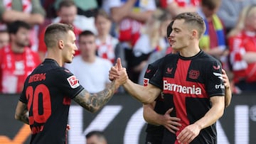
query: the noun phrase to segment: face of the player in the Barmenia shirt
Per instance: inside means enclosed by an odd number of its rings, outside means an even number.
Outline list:
[[[184,20],[175,20],[169,37],[169,43],[174,50],[182,50],[189,46],[190,31]]]

